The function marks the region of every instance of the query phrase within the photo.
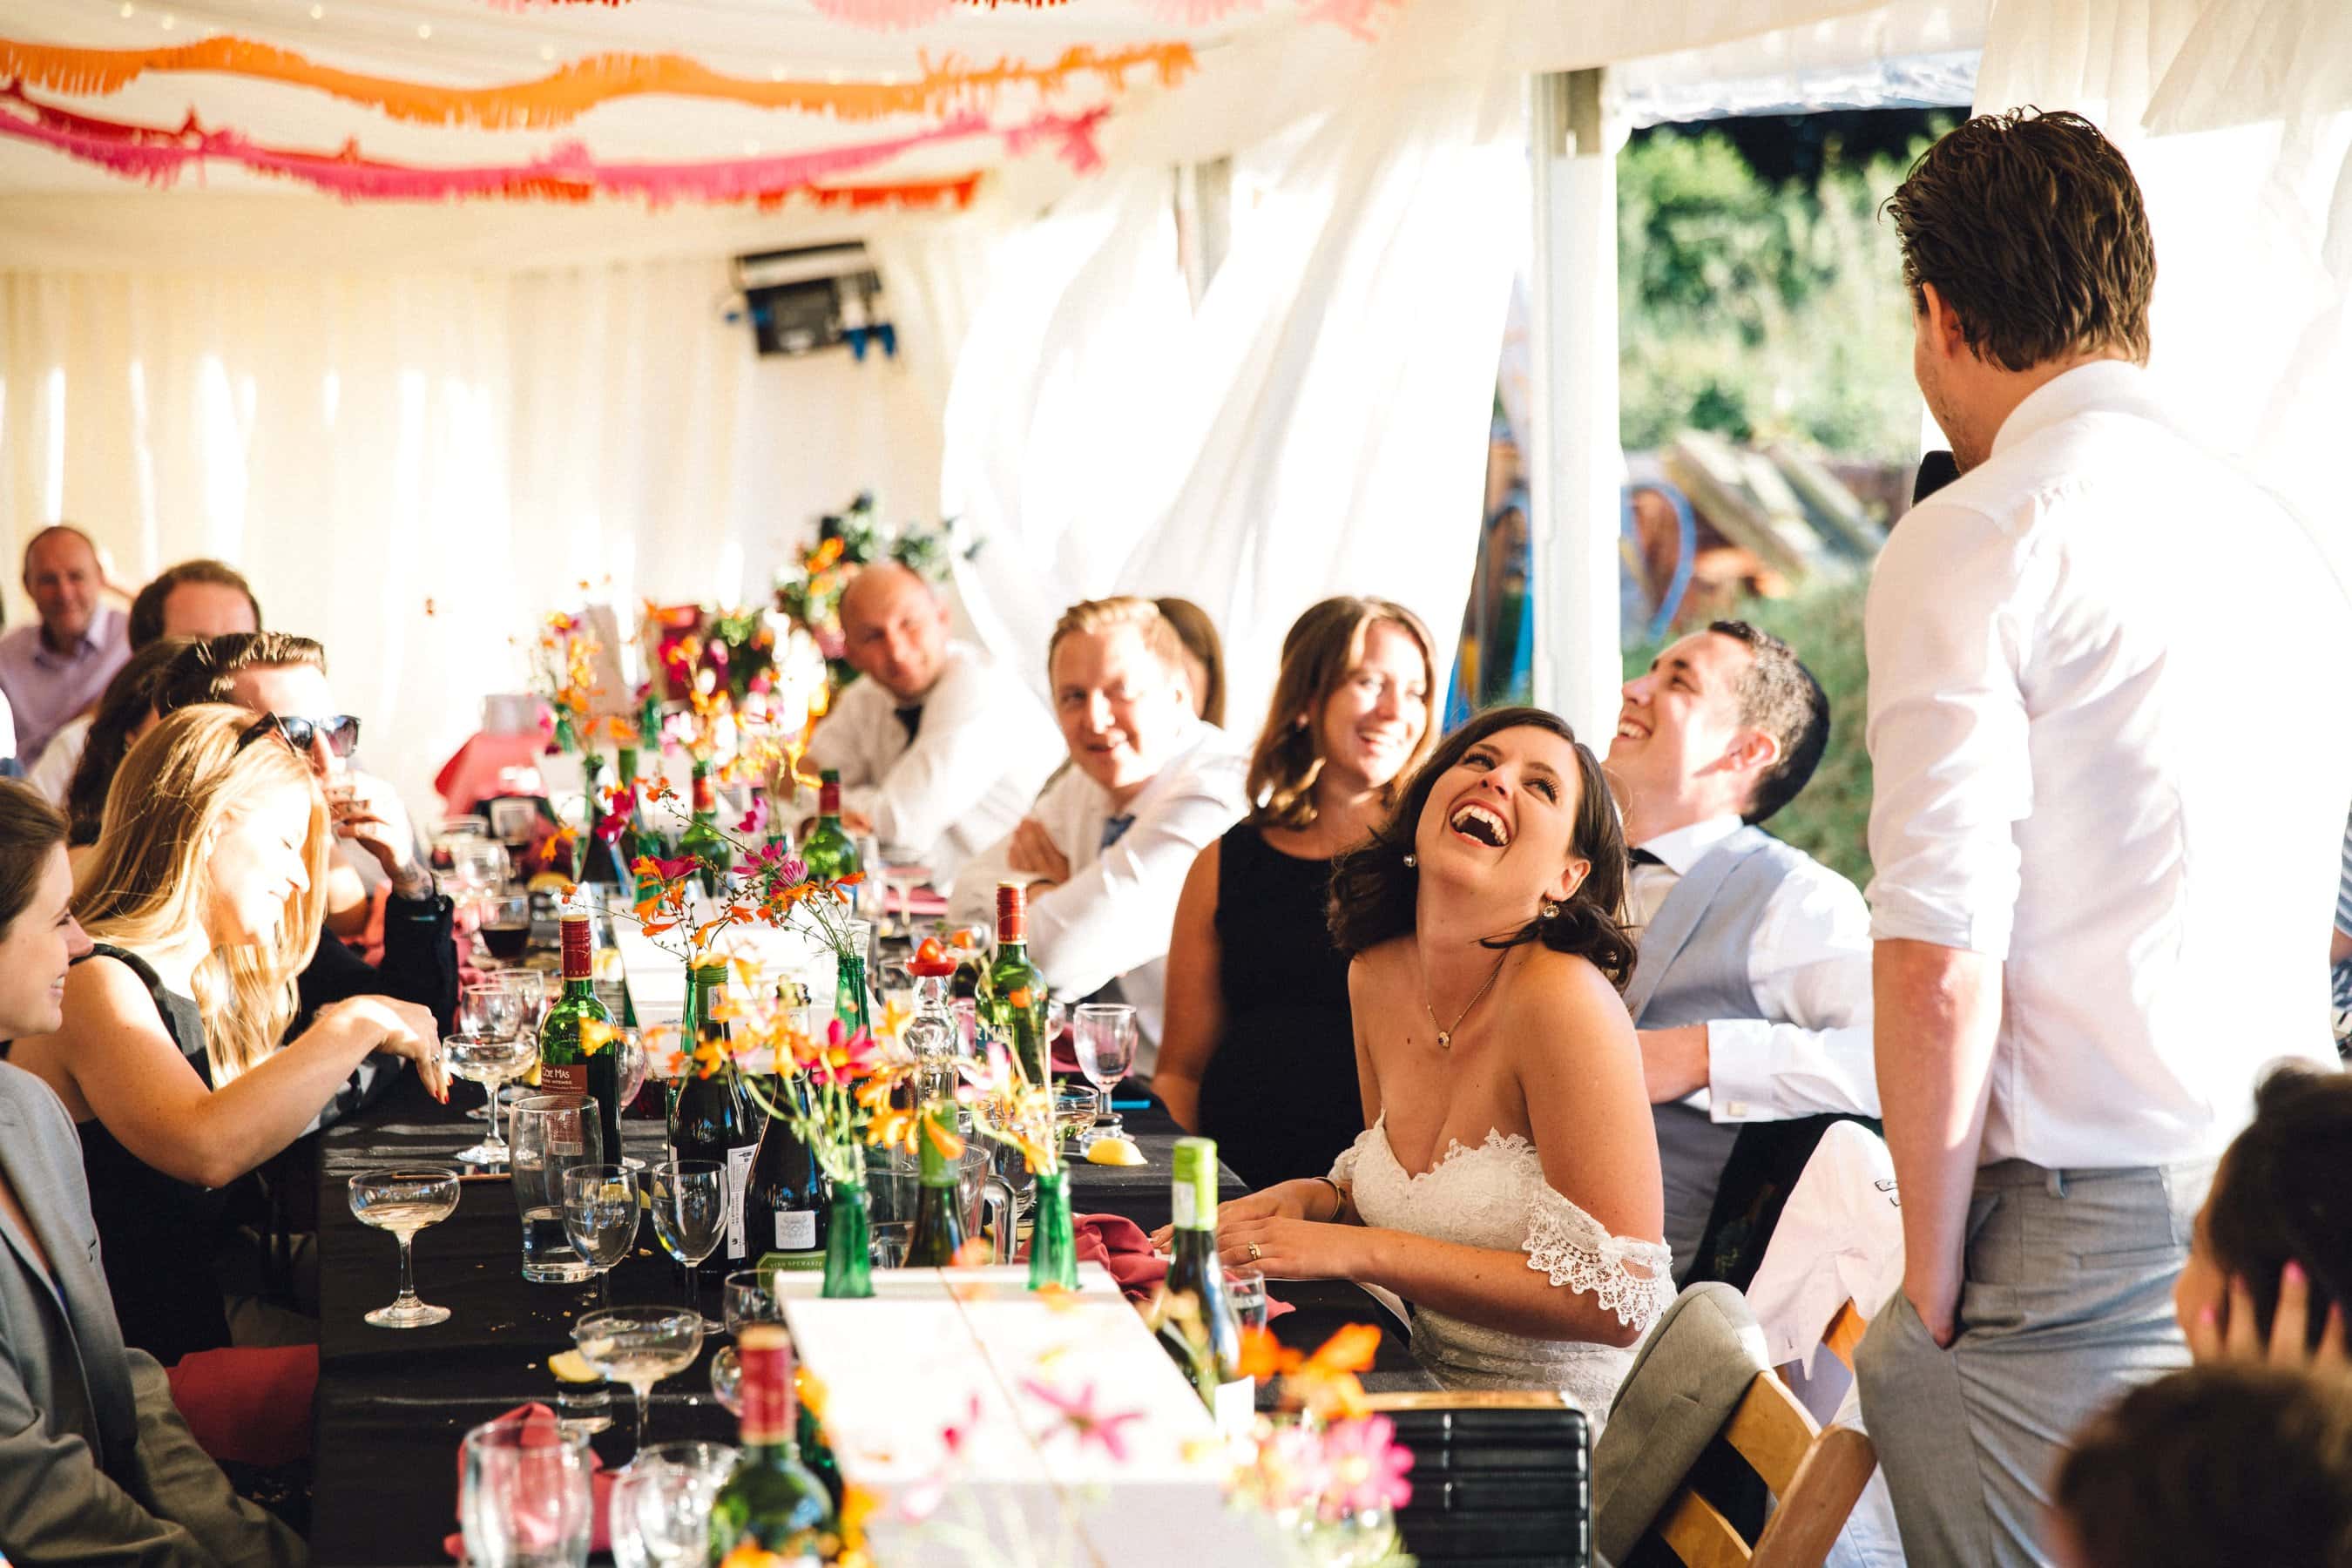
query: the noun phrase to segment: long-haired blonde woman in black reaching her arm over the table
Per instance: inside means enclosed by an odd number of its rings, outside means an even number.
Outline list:
[[[158,1361],[230,1342],[214,1253],[223,1190],[292,1143],[369,1051],[447,1098],[433,1016],[353,997],[294,1018],[320,938],[327,802],[275,717],[174,712],[122,759],[73,914],[96,940],[64,1027],[16,1067],[66,1103],[122,1342]]]

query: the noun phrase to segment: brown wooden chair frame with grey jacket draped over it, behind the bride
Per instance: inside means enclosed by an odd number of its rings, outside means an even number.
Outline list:
[[[1823,1345],[1849,1368],[1867,1324],[1846,1302]],[[1717,1434],[1764,1479],[1778,1507],[1750,1544],[1722,1509],[1684,1483],[1651,1535],[1686,1568],[1820,1568],[1870,1483],[1879,1455],[1853,1427],[1823,1432],[1778,1373],[1757,1373]]]

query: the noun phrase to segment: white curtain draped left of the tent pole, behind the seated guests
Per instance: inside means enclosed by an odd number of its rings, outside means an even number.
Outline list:
[[[1218,621],[1244,733],[1327,595],[1395,597],[1451,651],[1529,197],[1517,80],[1411,61],[1392,40],[1350,108],[1284,141],[1197,315],[1162,169],[990,252],[941,489],[988,538],[957,571],[971,621],[1040,689],[1054,618],[1105,592]],[[924,244],[884,249],[894,294]]]

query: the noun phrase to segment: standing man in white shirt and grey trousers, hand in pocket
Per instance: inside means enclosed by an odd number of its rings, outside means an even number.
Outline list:
[[[2154,397],[2154,247],[2096,127],[1980,115],[1886,209],[1962,475],[1865,618],[1905,1269],[1856,1373],[1912,1568],[2039,1563],[2067,1434],[2187,1363],[2171,1288],[2253,1084],[2336,1065],[2352,726],[2312,691],[2352,602]]]

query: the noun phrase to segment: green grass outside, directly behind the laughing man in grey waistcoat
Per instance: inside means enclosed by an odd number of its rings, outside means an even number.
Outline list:
[[[1792,649],[1830,696],[1830,750],[1813,780],[1764,823],[1856,886],[1870,884],[1870,752],[1863,748],[1863,595],[1867,578],[1816,583],[1785,599],[1748,599],[1738,618],[1762,625]],[[1656,644],[1628,649],[1628,679],[1649,668]]]

